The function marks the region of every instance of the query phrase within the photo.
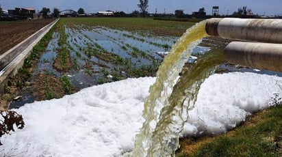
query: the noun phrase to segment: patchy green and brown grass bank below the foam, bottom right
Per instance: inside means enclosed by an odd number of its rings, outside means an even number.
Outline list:
[[[278,102],[248,117],[235,130],[209,138],[196,152],[185,154],[180,150],[177,156],[282,156],[282,103]]]

